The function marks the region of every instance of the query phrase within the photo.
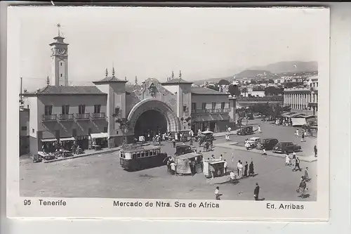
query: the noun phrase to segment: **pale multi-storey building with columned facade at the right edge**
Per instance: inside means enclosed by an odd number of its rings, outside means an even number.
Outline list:
[[[290,106],[291,111],[317,115],[318,77],[310,77],[305,86],[284,89],[284,106]]]

